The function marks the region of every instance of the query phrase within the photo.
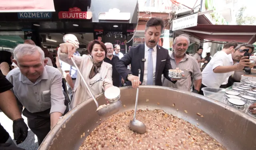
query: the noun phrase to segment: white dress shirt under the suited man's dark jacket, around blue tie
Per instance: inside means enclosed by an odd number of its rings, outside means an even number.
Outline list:
[[[144,58],[146,61],[144,62],[144,76],[142,85],[147,85],[148,80],[148,54],[149,54],[149,47],[145,44],[145,55]],[[152,58],[153,58],[153,85],[156,85],[156,46],[153,47],[152,50]]]

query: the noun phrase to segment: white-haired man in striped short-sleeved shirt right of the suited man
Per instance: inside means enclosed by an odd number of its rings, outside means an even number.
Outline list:
[[[177,81],[175,84],[170,82],[163,76],[162,82],[163,86],[177,88],[190,92],[190,87],[192,86],[192,77],[194,79],[195,87],[192,92],[198,94],[202,83],[202,73],[198,66],[196,58],[185,54],[186,50],[188,49],[189,43],[190,40],[186,34],[181,34],[180,36],[176,37],[172,44],[174,52],[170,55],[172,67],[184,70],[185,76],[181,80]]]

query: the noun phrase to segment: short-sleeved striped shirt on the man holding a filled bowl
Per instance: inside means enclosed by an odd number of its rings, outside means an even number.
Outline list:
[[[170,88],[177,88],[180,90],[185,90],[190,92],[190,87],[192,85],[191,77],[193,80],[202,79],[202,72],[198,66],[198,62],[196,58],[193,58],[190,55],[184,54],[184,58],[177,64],[174,59],[174,52],[170,55],[172,68],[179,68],[184,71],[184,77],[181,80],[178,80],[175,84],[167,80],[166,78],[162,78],[163,86]]]

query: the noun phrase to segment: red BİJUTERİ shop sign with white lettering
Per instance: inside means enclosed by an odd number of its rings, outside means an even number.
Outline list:
[[[80,8],[69,8],[69,11],[59,12],[59,19],[91,19],[92,12],[81,12]]]

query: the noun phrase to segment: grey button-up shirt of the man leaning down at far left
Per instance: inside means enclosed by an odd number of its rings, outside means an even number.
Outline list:
[[[64,94],[62,75],[52,66],[45,66],[42,76],[35,83],[20,73],[20,68],[11,70],[6,78],[14,86],[12,91],[21,104],[31,113],[42,112],[51,108],[50,113],[64,113]]]

